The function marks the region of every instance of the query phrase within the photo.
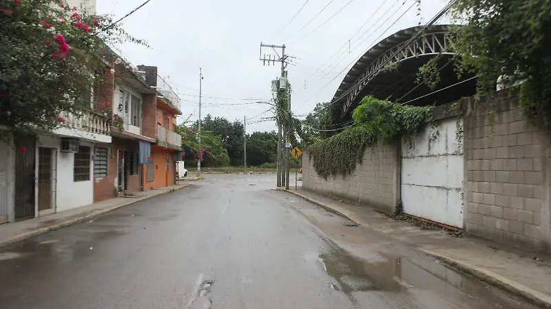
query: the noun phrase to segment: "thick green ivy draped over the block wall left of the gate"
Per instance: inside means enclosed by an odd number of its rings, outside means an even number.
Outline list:
[[[366,96],[354,109],[354,127],[329,138],[316,141],[309,156],[318,175],[349,175],[362,162],[366,147],[397,138],[413,138],[429,122],[433,122],[433,107],[400,105]]]

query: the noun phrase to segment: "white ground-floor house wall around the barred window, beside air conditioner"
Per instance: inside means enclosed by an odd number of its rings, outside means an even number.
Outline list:
[[[94,144],[83,142],[81,146],[90,147],[94,151]],[[74,153],[61,152],[61,138],[58,136],[38,136],[37,147],[52,147],[57,149],[57,193],[56,212],[67,211],[94,202],[94,162],[90,158],[90,180],[74,182]],[[38,150],[37,150],[38,153]],[[38,202],[38,201],[37,201]]]

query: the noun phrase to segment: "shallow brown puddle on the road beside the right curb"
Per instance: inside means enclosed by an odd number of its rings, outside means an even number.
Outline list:
[[[368,292],[400,294],[410,299],[408,308],[536,308],[429,258],[377,256],[375,261],[362,259],[331,242],[318,261],[333,277],[328,288],[344,293],[354,305]]]

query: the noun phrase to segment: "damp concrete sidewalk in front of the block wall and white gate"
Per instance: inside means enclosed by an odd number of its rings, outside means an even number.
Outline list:
[[[284,190],[282,190],[284,191]],[[453,237],[446,231],[427,230],[394,220],[365,206],[298,189],[289,191],[300,198],[411,244],[417,250],[474,277],[551,308],[551,257],[507,247],[484,239]],[[539,259],[540,261],[537,261]]]

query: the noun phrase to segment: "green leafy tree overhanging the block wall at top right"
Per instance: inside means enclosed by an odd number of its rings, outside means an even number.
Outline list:
[[[501,76],[522,83],[520,104],[536,125],[551,130],[551,2],[457,0],[455,51],[462,69],[477,74],[480,93]]]

